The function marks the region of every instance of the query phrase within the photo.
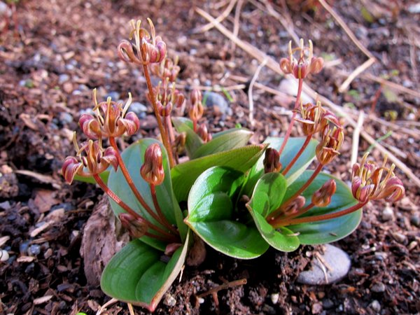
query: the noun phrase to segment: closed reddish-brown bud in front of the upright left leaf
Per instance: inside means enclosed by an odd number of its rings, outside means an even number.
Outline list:
[[[144,153],[144,163],[140,174],[151,185],[158,186],[165,179],[165,170],[162,165],[162,150],[159,144],[151,144]]]

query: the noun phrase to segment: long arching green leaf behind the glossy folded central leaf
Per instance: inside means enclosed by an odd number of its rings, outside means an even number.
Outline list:
[[[171,170],[176,199],[179,202],[187,200],[190,188],[197,177],[210,167],[223,166],[246,172],[260,158],[265,148],[266,146],[244,146],[176,165]]]

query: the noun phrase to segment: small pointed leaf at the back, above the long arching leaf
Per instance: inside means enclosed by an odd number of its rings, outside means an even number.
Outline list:
[[[197,148],[193,153],[192,158],[201,158],[205,155],[211,155],[218,152],[232,150],[234,148],[241,148],[246,146],[248,140],[252,137],[252,132],[244,128],[230,129],[224,132],[215,134],[213,140],[203,144],[200,148]]]

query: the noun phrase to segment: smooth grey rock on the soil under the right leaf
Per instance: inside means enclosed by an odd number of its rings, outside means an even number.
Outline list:
[[[315,257],[311,260],[311,269],[301,272],[297,276],[297,282],[310,285],[328,284],[339,281],[349,272],[351,266],[349,255],[340,248],[325,244],[325,253],[321,254],[321,257],[331,270],[327,266],[321,266]]]

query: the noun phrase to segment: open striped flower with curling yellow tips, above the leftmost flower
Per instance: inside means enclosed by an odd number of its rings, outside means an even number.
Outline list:
[[[90,139],[120,137],[123,134],[131,136],[139,130],[140,122],[137,115],[133,112],[127,113],[132,103],[131,93],[128,94],[124,107],[123,104],[112,102],[111,97],[108,97],[106,102],[98,104],[96,89],[93,90],[93,101],[96,117],[83,114],[79,119],[83,133]]]

